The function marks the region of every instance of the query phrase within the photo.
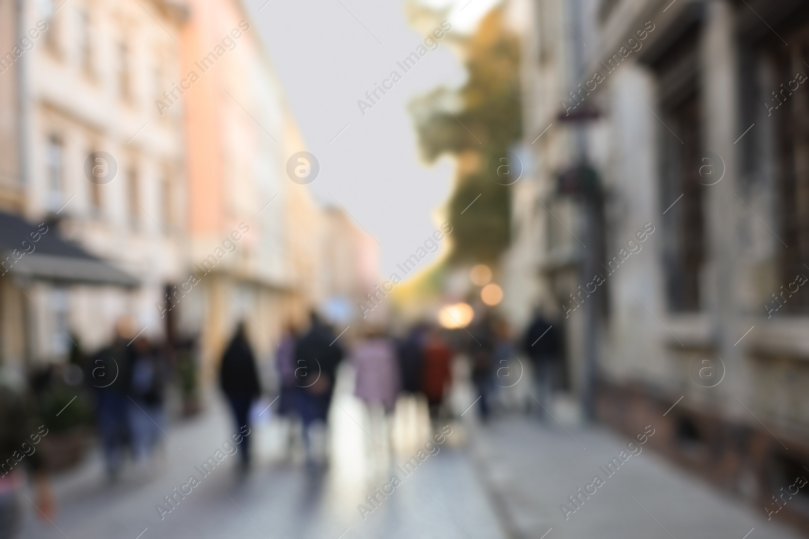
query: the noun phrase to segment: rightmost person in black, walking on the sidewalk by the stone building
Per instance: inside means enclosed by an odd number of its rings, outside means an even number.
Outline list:
[[[549,414],[551,396],[561,363],[561,340],[557,328],[536,310],[523,338],[523,352],[531,359],[536,378],[537,400],[542,415]]]

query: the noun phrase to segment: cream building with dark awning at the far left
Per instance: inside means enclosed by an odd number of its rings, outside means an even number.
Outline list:
[[[11,15],[2,24],[14,23],[0,60],[3,129],[13,125],[4,162],[17,163],[2,200],[48,232],[4,280],[3,354],[57,360],[71,335],[91,351],[124,314],[162,337],[154,304],[179,275],[184,242],[183,138],[152,101],[179,68],[172,32],[185,12],[157,0],[16,4],[0,5]],[[49,245],[57,238],[78,251]]]

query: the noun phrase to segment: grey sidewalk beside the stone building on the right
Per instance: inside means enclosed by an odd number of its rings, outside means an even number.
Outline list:
[[[715,491],[645,446],[610,477],[599,466],[629,440],[604,427],[565,427],[570,432],[559,423],[513,416],[474,435],[478,469],[515,539],[801,537],[776,517],[768,522],[763,508]],[[580,497],[581,507],[565,520],[560,505],[575,508],[568,497],[596,474],[604,485],[588,499]]]

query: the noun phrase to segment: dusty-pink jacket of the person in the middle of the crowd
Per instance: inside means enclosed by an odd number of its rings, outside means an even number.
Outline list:
[[[351,363],[357,370],[354,394],[368,406],[381,405],[390,413],[399,393],[399,366],[396,346],[382,331],[366,331],[352,351]]]

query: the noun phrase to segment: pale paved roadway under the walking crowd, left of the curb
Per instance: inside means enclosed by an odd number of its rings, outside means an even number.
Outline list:
[[[367,430],[352,397],[336,398],[336,429],[348,445],[362,445]],[[356,404],[354,402],[354,404]],[[341,410],[341,408],[343,410]],[[351,415],[351,417],[348,417]],[[138,475],[129,468],[121,482],[108,486],[100,455],[94,454],[78,470],[55,479],[57,518],[53,524],[34,518],[27,500],[27,516],[20,537],[26,539],[158,539],[194,537],[269,539],[500,539],[505,537],[481,486],[469,453],[443,444],[363,520],[357,504],[365,503],[372,488],[352,484],[335,470],[362,466],[358,453],[328,471],[290,462],[269,463],[256,454],[252,473],[239,481],[236,456],[226,457],[189,495],[161,520],[155,505],[188,481],[191,474],[230,436],[231,425],[221,403],[191,423],[167,428],[163,461]],[[354,423],[357,421],[358,423]],[[364,425],[362,428],[359,425]],[[266,432],[265,432],[266,434]],[[460,434],[460,433],[459,433]],[[453,436],[456,436],[455,434]],[[260,439],[260,436],[256,436]],[[257,453],[260,453],[260,448]],[[375,481],[373,486],[388,482]],[[400,478],[402,476],[400,475]],[[28,494],[30,497],[30,494]],[[142,535],[140,535],[142,534]],[[342,534],[342,535],[341,535]]]

